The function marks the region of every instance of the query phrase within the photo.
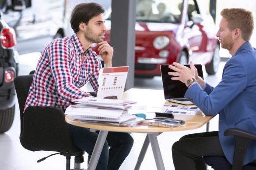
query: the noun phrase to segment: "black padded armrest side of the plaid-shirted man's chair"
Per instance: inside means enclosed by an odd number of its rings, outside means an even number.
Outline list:
[[[28,150],[46,150],[76,153],[63,110],[49,106],[29,106],[24,112],[23,147]]]

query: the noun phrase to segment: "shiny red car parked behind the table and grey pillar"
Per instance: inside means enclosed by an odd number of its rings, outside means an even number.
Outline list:
[[[209,75],[217,72],[220,45],[214,20],[196,0],[137,0],[136,12],[135,75],[161,75],[160,65],[174,61],[203,64]],[[110,43],[111,12],[105,16]]]

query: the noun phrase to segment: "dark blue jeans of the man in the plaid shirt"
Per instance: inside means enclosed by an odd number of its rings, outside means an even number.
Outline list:
[[[87,128],[68,125],[74,145],[88,153],[89,163],[99,132],[90,132]],[[96,170],[118,170],[132,146],[133,138],[129,133],[109,132]]]

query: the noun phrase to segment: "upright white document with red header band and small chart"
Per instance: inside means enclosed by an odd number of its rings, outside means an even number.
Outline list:
[[[102,68],[98,77],[97,98],[122,99],[129,66]]]

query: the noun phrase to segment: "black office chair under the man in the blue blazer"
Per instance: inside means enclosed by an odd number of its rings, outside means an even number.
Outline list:
[[[251,140],[256,140],[256,134],[249,133],[242,129],[230,128],[224,132],[224,136],[233,135],[235,137],[235,151],[233,165],[224,156],[204,156],[204,162],[214,170],[256,170],[255,163],[242,166],[246,154],[247,144]]]

